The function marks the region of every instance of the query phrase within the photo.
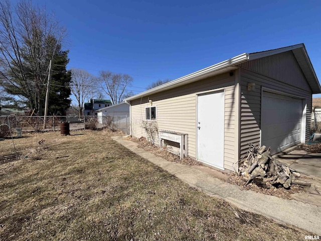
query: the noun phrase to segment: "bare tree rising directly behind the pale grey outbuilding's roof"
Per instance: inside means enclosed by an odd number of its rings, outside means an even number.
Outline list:
[[[126,89],[133,81],[133,78],[128,74],[114,74],[110,71],[100,71],[99,80],[102,89],[110,97],[113,104],[120,103],[131,92]]]

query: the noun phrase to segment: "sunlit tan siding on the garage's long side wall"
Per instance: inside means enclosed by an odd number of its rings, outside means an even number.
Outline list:
[[[154,95],[131,100],[131,131],[134,137],[146,137],[141,127],[145,120],[145,107],[156,106],[156,122],[158,130],[168,130],[188,134],[188,155],[196,158],[196,99],[197,93],[224,88],[225,90],[225,145],[224,168],[233,169],[234,150],[237,143],[235,133],[235,75],[229,73],[199,80]],[[213,103],[215,104],[215,103]],[[158,145],[159,140],[156,140]]]

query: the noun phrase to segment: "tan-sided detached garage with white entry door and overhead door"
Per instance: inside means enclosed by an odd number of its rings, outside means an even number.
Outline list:
[[[310,137],[312,94],[321,92],[304,44],[242,54],[126,98],[131,135],[143,121],[188,134],[188,156],[237,170],[249,143],[271,154]],[[156,142],[157,143],[157,140]]]

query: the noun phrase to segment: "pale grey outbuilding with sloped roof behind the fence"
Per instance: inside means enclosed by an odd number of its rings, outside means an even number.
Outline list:
[[[96,110],[97,119],[100,124],[103,124],[106,116],[122,116],[126,119],[126,116],[129,116],[129,104],[128,103],[120,103],[115,104],[109,107],[104,107]]]

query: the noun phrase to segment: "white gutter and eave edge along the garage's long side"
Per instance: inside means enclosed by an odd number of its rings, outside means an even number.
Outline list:
[[[245,62],[247,60],[248,60],[248,54],[244,53],[244,54],[235,56],[235,57],[233,57],[231,59],[228,59],[228,60],[225,60],[223,62],[220,62],[218,64],[215,64],[215,65],[212,65],[210,67],[207,67],[205,69],[201,69],[201,70],[199,70],[197,72],[188,74],[188,75],[183,76],[181,78],[178,78],[176,80],[173,80],[173,81],[170,81],[168,83],[159,85],[159,86],[157,86],[155,88],[146,90],[146,91],[144,91],[142,93],[139,93],[139,94],[136,94],[134,96],[125,98],[124,100],[125,101],[129,101],[129,100],[133,100],[133,99],[136,99],[136,98],[148,95],[148,94],[159,92],[159,91],[161,91],[163,89],[174,88],[175,85],[178,85],[178,84],[180,84],[182,82],[185,82],[187,80],[191,80],[191,79],[200,77],[200,76],[205,75],[205,74],[209,74],[209,73],[212,73],[212,72],[215,72],[215,71],[218,71],[218,70],[221,70],[221,69],[233,66],[233,65],[237,65],[237,64],[240,64],[240,63]]]

